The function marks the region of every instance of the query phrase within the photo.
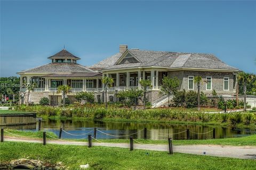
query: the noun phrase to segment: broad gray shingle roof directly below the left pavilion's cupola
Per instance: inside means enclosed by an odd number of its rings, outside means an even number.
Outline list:
[[[23,70],[18,73],[95,73],[95,71],[75,63],[50,63],[34,67],[33,69]]]

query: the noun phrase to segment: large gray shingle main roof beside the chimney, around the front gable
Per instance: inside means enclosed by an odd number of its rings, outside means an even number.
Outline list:
[[[93,68],[101,70],[120,69],[125,67],[146,67],[159,66],[167,68],[193,67],[203,69],[227,69],[238,70],[222,62],[219,58],[212,54],[202,53],[177,53],[177,52],[157,52],[149,50],[129,49],[141,63],[115,64],[122,56],[117,53],[105,60],[94,64]]]

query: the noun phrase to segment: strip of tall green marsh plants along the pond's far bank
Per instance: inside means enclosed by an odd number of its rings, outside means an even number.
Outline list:
[[[17,111],[36,112],[38,116],[61,116],[68,118],[85,118],[93,120],[127,120],[127,121],[155,121],[155,122],[194,122],[210,124],[244,124],[255,125],[256,111],[236,113],[204,113],[197,111],[178,111],[173,109],[137,110],[102,106],[80,106],[62,109],[50,106],[17,106]]]

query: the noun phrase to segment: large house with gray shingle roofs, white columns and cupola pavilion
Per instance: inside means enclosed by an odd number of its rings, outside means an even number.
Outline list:
[[[90,67],[76,63],[80,58],[63,49],[49,57],[50,64],[19,72],[21,84],[36,82],[39,87],[31,94],[31,101],[38,103],[41,97],[49,97],[52,105],[60,105],[61,95],[57,87],[68,84],[72,87],[69,97],[77,91],[93,91],[95,101],[102,101],[102,77],[114,79],[113,87],[108,90],[108,101],[116,101],[120,90],[140,88],[139,81],[149,79],[152,89],[148,99],[157,106],[166,101],[159,95],[162,78],[178,77],[179,89],[197,90],[194,77],[203,78],[201,91],[211,95],[215,90],[219,95],[233,96],[236,89],[236,75],[239,72],[212,54],[158,52],[140,49],[128,49],[119,46],[119,53],[100,61]],[[21,92],[26,91],[21,87]]]

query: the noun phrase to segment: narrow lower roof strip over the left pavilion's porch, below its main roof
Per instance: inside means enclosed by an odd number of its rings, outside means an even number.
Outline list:
[[[102,73],[54,73],[45,75],[44,77],[102,77]]]

